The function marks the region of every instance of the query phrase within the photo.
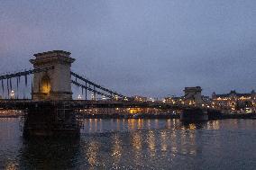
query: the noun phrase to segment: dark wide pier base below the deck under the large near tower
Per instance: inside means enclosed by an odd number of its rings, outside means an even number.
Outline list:
[[[69,103],[38,103],[28,108],[23,136],[79,137],[80,126]]]

